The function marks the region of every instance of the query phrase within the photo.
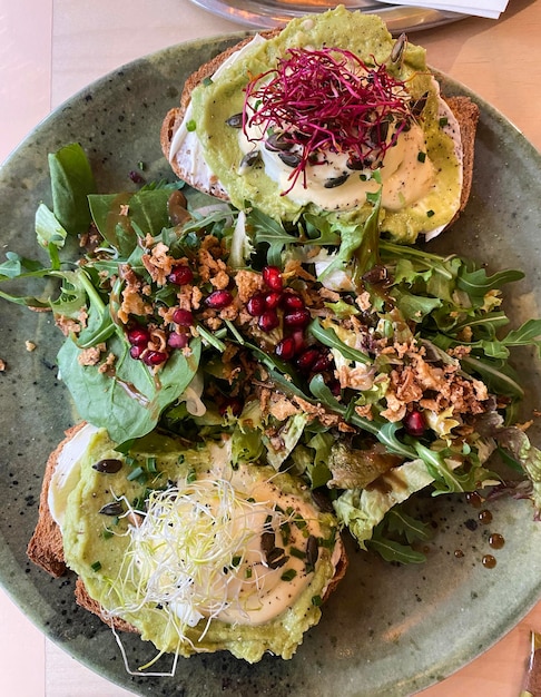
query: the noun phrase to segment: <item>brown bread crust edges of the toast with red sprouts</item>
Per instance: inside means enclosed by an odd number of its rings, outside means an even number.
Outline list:
[[[281,29],[274,29],[269,32],[263,32],[262,36],[265,38],[270,38],[279,33]],[[178,166],[178,163],[173,159],[170,160],[170,148],[173,138],[183,122],[184,115],[186,112],[186,108],[190,101],[193,90],[206,78],[212,77],[219,66],[234,52],[243,48],[246,43],[252,40],[252,37],[247,37],[239,43],[228,48],[226,51],[219,53],[213,60],[204,63],[196,72],[190,75],[184,85],[183,92],[180,95],[180,106],[170,109],[161,125],[160,130],[160,144],[161,150],[166,156],[167,160],[170,164],[173,171],[177,175],[179,179],[186,181],[196,189],[204,192],[205,194],[210,194],[216,198],[220,198],[223,200],[228,200],[227,194],[224,192],[219,181],[216,179],[212,181],[210,188],[206,188],[201,186],[197,180],[194,179],[194,175],[190,171],[186,171]],[[461,193],[461,202],[460,208],[456,212],[453,219],[447,224],[446,227],[452,225],[460,214],[464,210],[468,199],[470,198],[472,179],[473,179],[473,159],[474,159],[474,146],[475,146],[475,132],[479,121],[479,107],[474,104],[469,97],[456,96],[456,97],[445,97],[445,101],[450,106],[452,112],[454,114],[456,120],[459,121],[461,139],[462,139],[462,148],[463,148],[463,183],[462,183],[462,193]]]

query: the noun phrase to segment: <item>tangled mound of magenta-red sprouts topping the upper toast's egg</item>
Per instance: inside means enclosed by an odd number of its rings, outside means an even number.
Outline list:
[[[385,65],[368,66],[338,48],[292,48],[276,69],[248,82],[243,128],[250,140],[278,136],[279,149],[297,156],[291,190],[301,175],[306,186],[306,166],[322,164],[328,151],[346,154],[355,169],[380,166],[412,119],[409,101],[404,82]],[[248,135],[252,127],[264,135]]]

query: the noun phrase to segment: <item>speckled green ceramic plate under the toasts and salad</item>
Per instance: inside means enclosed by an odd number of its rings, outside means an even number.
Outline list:
[[[49,202],[47,154],[78,140],[99,187],[132,187],[129,173],[147,164],[148,178],[171,178],[159,127],[186,76],[240,38],[191,42],[138,60],[60,107],[6,163],[0,174],[0,244],[35,255],[33,214]],[[465,90],[442,78],[447,94]],[[513,316],[539,315],[541,300],[541,157],[492,108],[482,104],[470,204],[434,249],[459,252],[491,267],[523,268],[513,287]],[[0,304],[0,580],[21,609],[69,654],[138,695],[167,697],[375,697],[410,695],[444,678],[515,625],[541,595],[541,523],[531,504],[500,499],[492,523],[460,497],[421,499],[435,537],[423,567],[395,567],[352,551],[340,591],[324,608],[291,661],[270,656],[255,666],[229,655],[180,660],[174,678],[131,677],[110,630],[73,602],[73,578],[51,579],[26,558],[38,512],[43,464],[63,430],[77,421],[56,370],[61,337],[47,314]],[[26,341],[37,348],[26,350]],[[519,356],[529,395],[524,413],[541,406],[539,362]],[[533,440],[541,442],[539,430]],[[491,532],[505,539],[489,546]],[[462,556],[456,554],[461,550]],[[488,569],[482,559],[496,558]],[[124,639],[131,666],[154,656],[135,636]],[[161,666],[166,668],[164,664]]]

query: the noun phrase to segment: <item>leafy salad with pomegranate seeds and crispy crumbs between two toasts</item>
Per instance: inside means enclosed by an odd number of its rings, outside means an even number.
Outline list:
[[[8,252],[0,283],[52,278],[57,293],[0,297],[52,312],[60,376],[119,448],[154,429],[229,433],[234,465],[305,478],[361,547],[401,562],[422,561],[427,536],[407,499],[502,487],[495,451],[539,514],[541,453],[515,425],[509,357],[541,354],[541,320],[509,330],[501,305],[521,272],[381,238],[378,195],[363,225],[286,227],[181,183],[97,194],[78,145],[49,161],[48,261]]]

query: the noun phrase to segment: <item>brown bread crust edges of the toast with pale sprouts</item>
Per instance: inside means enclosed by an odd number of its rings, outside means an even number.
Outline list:
[[[49,509],[49,488],[62,448],[83,426],[85,422],[72,426],[71,429],[68,429],[66,431],[66,438],[52,451],[47,460],[39,500],[38,522],[27,548],[27,554],[29,559],[55,578],[65,576],[69,571],[69,569],[66,566],[63,556],[62,533],[59,526],[53,520],[51,511]],[[331,579],[325,591],[324,600],[326,600],[328,596],[334,591],[347,569],[347,557],[342,539],[338,538],[337,544],[340,549],[340,559],[336,563],[335,575]],[[92,612],[94,615],[97,615],[106,625],[114,628],[115,630],[129,631],[135,634],[139,632],[136,627],[125,621],[124,619],[119,617],[110,617],[108,613],[106,613],[100,603],[88,595],[85,583],[81,581],[80,578],[78,578],[76,581],[75,597],[77,603],[80,607],[85,608],[89,612]]]

